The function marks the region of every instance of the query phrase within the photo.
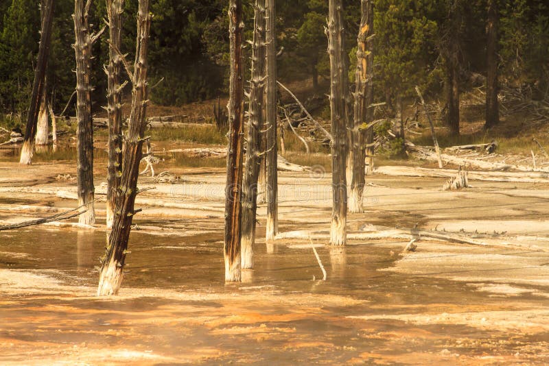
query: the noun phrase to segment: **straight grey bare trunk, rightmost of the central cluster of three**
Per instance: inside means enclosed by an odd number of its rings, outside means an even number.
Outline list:
[[[266,10],[266,171],[267,171],[267,223],[266,240],[273,240],[279,232],[278,184],[278,115],[277,115],[277,9],[274,0],[265,0]],[[283,136],[281,136],[283,138]],[[283,140],[281,148],[284,149]],[[283,152],[284,154],[284,152]]]

